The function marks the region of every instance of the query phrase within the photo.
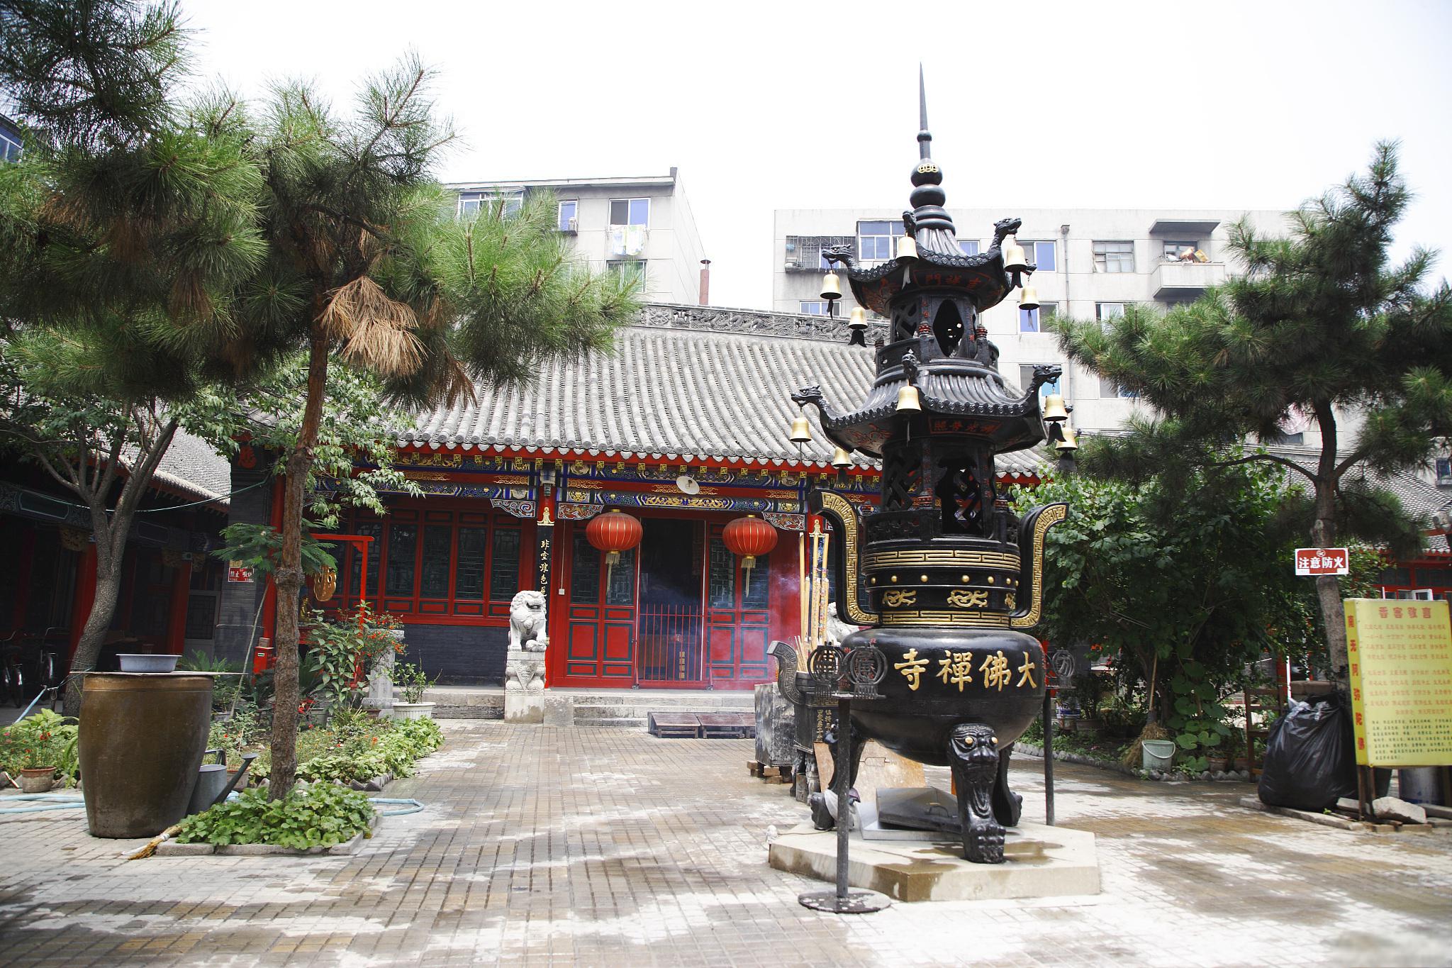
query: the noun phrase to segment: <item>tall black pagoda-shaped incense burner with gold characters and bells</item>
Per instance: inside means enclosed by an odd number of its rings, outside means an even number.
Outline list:
[[[871,268],[847,247],[825,253],[845,264],[857,300],[892,321],[890,340],[876,350],[873,387],[849,412],[815,386],[791,399],[817,408],[836,446],[883,462],[876,509],[860,512],[833,491],[810,495],[810,509],[842,541],[839,617],[870,625],[842,644],[851,653],[873,643],[886,656],[880,698],[852,702],[851,779],[861,739],[951,766],[964,855],[996,864],[1003,826],[1019,817],[1021,798],[1008,787],[1012,745],[1043,705],[1044,653],[1025,630],[1040,617],[1044,533],[1066,505],[1035,508],[1021,521],[995,488],[993,462],[1041,443],[1044,421],[1063,419],[1064,409],[1051,395],[1040,412],[1040,386],[1060,367],[1034,367],[1022,390],[998,373],[998,348],[979,316],[1019,286],[1019,305],[1037,305],[1025,286],[1034,267],[1013,239],[1016,219],[995,226],[987,253],[961,253],[926,128],[923,107],[913,209],[903,213],[912,244]],[[797,672],[794,650],[775,646],[774,655],[799,721],[809,707],[826,705],[813,678]]]

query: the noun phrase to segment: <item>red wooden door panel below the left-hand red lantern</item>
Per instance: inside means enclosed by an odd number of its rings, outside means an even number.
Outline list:
[[[562,686],[635,685],[636,581],[635,549],[620,553],[614,567],[575,527],[566,562],[569,604],[565,621]]]

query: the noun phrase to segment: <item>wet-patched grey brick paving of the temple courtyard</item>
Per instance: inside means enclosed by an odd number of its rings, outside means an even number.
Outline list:
[[[446,723],[351,858],[121,861],[80,811],[0,820],[0,964],[1452,964],[1452,836],[1356,834],[1233,805],[1243,784],[1059,766],[1104,893],[1043,903],[796,903],[765,864],[803,808],[751,742]],[[1038,760],[1018,775],[1041,816]]]

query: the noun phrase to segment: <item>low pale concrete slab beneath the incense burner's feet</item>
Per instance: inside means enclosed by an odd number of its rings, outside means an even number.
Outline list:
[[[1003,864],[968,864],[948,840],[862,840],[852,834],[848,882],[899,901],[984,901],[1099,893],[1093,834],[1025,823],[1008,830]],[[836,832],[802,824],[768,848],[778,871],[836,881]]]

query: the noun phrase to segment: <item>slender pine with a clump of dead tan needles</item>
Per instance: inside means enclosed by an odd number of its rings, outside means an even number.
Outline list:
[[[632,283],[569,258],[547,196],[518,213],[495,202],[454,218],[430,177],[453,139],[434,115],[430,80],[408,58],[369,80],[350,113],[283,84],[250,122],[267,255],[238,293],[237,358],[308,358],[302,418],[282,462],[273,797],[296,774],[302,521],[335,363],[378,376],[398,399],[457,401],[475,380],[529,379],[546,356],[607,347],[636,308]],[[240,115],[225,99],[213,106],[218,126]]]

